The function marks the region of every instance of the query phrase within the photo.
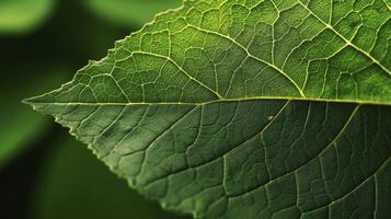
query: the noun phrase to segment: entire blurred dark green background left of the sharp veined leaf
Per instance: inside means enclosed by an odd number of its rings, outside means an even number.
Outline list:
[[[0,218],[188,218],[129,189],[53,119],[21,103],[181,0],[0,0]]]

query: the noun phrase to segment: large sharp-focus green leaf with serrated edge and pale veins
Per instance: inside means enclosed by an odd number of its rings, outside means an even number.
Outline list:
[[[166,209],[386,218],[390,19],[380,0],[185,1],[26,102]]]

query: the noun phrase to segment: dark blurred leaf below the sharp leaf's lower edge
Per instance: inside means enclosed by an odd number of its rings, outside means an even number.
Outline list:
[[[36,182],[32,205],[35,218],[179,218],[128,189],[79,142],[59,142],[49,151]]]

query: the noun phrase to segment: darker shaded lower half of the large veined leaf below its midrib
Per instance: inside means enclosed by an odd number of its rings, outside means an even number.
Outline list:
[[[255,100],[35,107],[168,209],[202,218],[388,212],[389,106]]]

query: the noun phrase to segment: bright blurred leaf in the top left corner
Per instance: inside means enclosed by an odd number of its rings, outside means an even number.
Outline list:
[[[33,31],[50,14],[54,4],[54,0],[1,0],[0,33]]]

